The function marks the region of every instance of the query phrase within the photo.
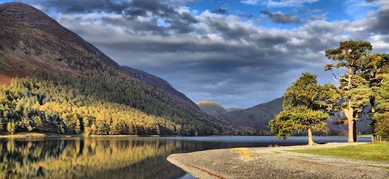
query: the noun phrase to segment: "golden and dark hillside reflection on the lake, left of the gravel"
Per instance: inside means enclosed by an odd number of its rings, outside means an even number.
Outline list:
[[[182,145],[171,140],[1,140],[0,176],[166,178],[184,174],[165,161]]]

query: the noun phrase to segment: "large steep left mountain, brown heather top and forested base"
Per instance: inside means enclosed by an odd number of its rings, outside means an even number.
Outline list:
[[[242,128],[205,115],[167,81],[120,66],[23,3],[0,5],[1,131],[221,135]]]

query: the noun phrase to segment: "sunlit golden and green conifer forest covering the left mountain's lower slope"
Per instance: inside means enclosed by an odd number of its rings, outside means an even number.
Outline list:
[[[85,135],[231,135],[240,127],[176,103],[115,70],[41,72],[0,87],[0,129]]]

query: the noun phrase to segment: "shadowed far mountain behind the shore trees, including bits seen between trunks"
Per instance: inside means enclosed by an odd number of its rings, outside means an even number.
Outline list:
[[[272,101],[258,104],[256,106],[237,110],[237,111],[228,111],[227,113],[222,113],[217,115],[216,117],[219,119],[223,119],[229,121],[234,124],[239,124],[242,126],[254,128],[257,130],[270,131],[268,127],[268,123],[270,120],[274,118],[280,111],[283,110],[283,100],[284,98],[277,98]],[[358,131],[369,131],[370,128],[367,126],[371,121],[368,120],[368,116],[366,115],[369,111],[369,105],[366,106],[364,110],[364,116],[360,118],[360,122],[357,123]],[[333,130],[347,130],[348,126],[343,125],[335,125],[333,121],[337,121],[339,117],[331,116],[332,121],[327,122],[327,127]]]

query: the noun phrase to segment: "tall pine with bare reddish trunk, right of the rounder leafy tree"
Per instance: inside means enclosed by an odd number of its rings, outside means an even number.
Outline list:
[[[361,77],[365,58],[370,55],[372,45],[367,41],[343,41],[337,49],[326,50],[329,59],[338,61],[337,64],[326,64],[325,70],[331,71],[335,80],[339,83],[338,94],[344,103],[334,106],[335,110],[342,111],[346,119],[339,120],[349,124],[348,142],[356,142],[356,121],[363,112],[363,108],[369,103],[372,91],[369,82]],[[334,73],[334,70],[339,71]]]

